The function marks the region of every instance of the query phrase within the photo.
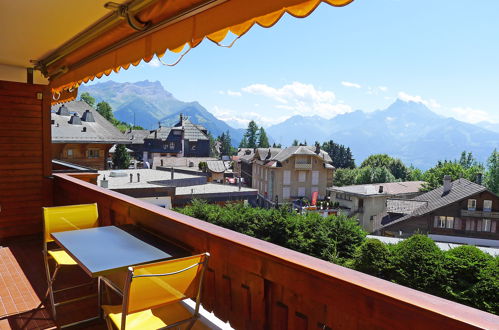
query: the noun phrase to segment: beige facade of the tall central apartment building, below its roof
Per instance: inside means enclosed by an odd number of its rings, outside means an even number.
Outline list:
[[[282,163],[282,167],[266,167],[258,162],[253,162],[253,177],[252,187],[258,189],[258,192],[275,200],[278,196],[279,202],[295,200],[300,196],[300,188],[304,188],[304,197],[308,200],[312,199],[312,191],[319,192],[319,199],[326,197],[326,188],[332,185],[333,170],[324,168],[324,162],[314,156],[306,156],[304,162],[311,163],[310,169],[296,169],[295,160],[297,156],[292,156]],[[284,182],[284,172],[290,173],[290,184]],[[300,172],[305,173],[305,181],[299,182]],[[317,183],[312,182],[312,173],[318,173]],[[271,180],[273,177],[273,180]],[[273,181],[273,183],[272,183]],[[289,188],[290,197],[285,198],[284,189]],[[270,191],[273,190],[273,191]],[[272,196],[270,196],[272,193]]]

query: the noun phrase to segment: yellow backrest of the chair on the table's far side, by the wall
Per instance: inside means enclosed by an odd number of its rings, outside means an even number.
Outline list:
[[[51,233],[99,226],[97,204],[54,206],[43,208],[43,237],[53,241]]]

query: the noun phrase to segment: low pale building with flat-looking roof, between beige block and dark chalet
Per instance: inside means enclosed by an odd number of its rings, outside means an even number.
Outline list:
[[[376,216],[386,209],[389,198],[409,199],[420,195],[423,182],[388,182],[328,188],[331,200],[342,213],[354,216],[367,232],[375,228]]]

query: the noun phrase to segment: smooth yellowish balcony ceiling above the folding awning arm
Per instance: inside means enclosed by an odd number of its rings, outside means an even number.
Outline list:
[[[106,0],[0,2],[0,64],[32,67],[66,41],[110,13]],[[124,3],[126,0],[113,0]]]

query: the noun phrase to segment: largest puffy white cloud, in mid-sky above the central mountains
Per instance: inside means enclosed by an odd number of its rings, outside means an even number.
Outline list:
[[[279,104],[275,105],[275,108],[287,110],[289,115],[319,115],[324,118],[332,118],[338,114],[352,111],[349,105],[335,103],[334,92],[318,90],[312,84],[293,82],[281,88],[253,84],[244,87],[242,91],[278,102]]]

